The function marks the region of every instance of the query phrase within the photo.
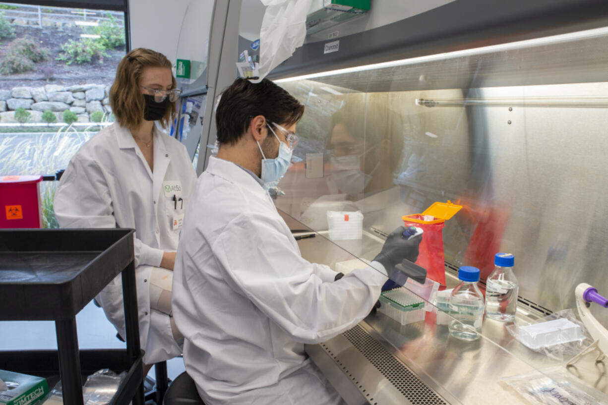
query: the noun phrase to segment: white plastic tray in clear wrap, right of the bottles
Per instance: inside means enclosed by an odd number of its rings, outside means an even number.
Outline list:
[[[516,337],[518,341],[533,350],[585,338],[581,327],[565,318],[519,327]]]

